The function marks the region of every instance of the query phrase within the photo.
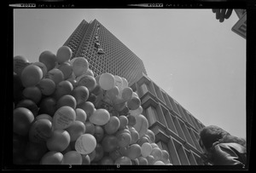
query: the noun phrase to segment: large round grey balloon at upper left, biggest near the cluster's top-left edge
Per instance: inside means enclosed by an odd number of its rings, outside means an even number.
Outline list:
[[[24,87],[35,86],[43,78],[43,72],[40,67],[36,65],[28,65],[21,72],[21,82]]]

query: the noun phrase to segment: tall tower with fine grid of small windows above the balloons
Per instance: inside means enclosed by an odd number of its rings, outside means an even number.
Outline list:
[[[104,55],[97,53],[96,37],[105,52]],[[126,78],[132,84],[142,72],[147,74],[143,61],[97,20],[90,23],[82,20],[64,45],[73,50],[72,58],[86,58],[95,76],[109,72]]]

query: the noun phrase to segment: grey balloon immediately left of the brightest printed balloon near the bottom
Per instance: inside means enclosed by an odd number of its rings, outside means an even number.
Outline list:
[[[67,130],[54,130],[52,136],[46,141],[50,151],[62,152],[70,143],[70,136]]]

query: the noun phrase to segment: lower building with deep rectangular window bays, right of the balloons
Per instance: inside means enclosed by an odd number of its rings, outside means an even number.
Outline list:
[[[142,101],[148,129],[155,134],[155,143],[165,149],[171,164],[203,165],[199,131],[205,127],[188,110],[143,74],[131,85]]]

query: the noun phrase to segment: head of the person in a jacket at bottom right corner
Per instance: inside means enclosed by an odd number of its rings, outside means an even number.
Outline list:
[[[216,125],[209,125],[200,131],[199,145],[204,153],[209,153],[212,145],[217,141],[219,143],[236,142],[246,147],[246,141],[244,139],[231,136],[230,133]]]

